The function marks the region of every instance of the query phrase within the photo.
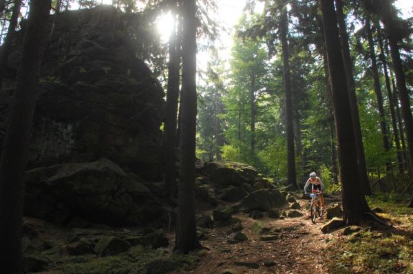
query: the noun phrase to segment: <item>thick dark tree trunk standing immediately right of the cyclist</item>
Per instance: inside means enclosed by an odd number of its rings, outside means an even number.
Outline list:
[[[346,72],[341,57],[337,17],[333,0],[320,0],[320,3],[334,103],[343,213],[348,224],[359,224],[365,220],[365,213],[370,212],[370,209],[361,191],[359,178],[356,177],[357,179],[354,180],[354,174],[359,172],[359,167],[352,120],[348,119],[351,117],[351,109],[346,77],[344,77]]]

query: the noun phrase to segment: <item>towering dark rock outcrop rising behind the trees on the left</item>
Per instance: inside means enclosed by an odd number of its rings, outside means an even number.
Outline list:
[[[50,17],[50,26],[53,20]],[[136,43],[153,49],[149,38],[142,38],[151,35],[145,35],[150,30],[144,30],[140,20],[138,14],[100,6],[62,12],[53,22],[55,34],[47,40],[42,61],[30,167],[105,157],[147,180],[161,178],[164,92],[143,59],[149,52],[136,57]],[[21,33],[0,92],[0,143],[10,117]]]

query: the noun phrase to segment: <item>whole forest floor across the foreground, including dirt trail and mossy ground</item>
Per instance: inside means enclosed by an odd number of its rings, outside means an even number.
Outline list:
[[[301,205],[298,218],[254,220],[247,213],[236,213],[237,225],[202,229],[206,248],[189,255],[173,253],[175,235],[167,234],[169,246],[160,249],[132,247],[114,256],[67,256],[47,266],[43,274],[138,274],[138,273],[406,273],[413,274],[413,209],[405,207],[405,198],[390,195],[368,198],[370,207],[379,207],[381,217],[392,227],[341,227],[322,233],[326,216],[313,224],[309,218],[309,201]],[[338,196],[326,198],[326,207],[339,202]],[[211,212],[206,212],[211,215]],[[240,225],[241,224],[241,225]],[[40,225],[40,224],[39,224]],[[246,240],[231,244],[235,231],[242,229]],[[125,232],[126,231],[126,232]],[[123,235],[128,230],[101,231],[102,235]],[[263,233],[263,231],[265,233]],[[89,231],[92,233],[92,231]],[[64,238],[67,231],[55,231],[50,240]],[[125,234],[125,235],[126,235]],[[177,264],[176,271],[149,271],[165,263]]]

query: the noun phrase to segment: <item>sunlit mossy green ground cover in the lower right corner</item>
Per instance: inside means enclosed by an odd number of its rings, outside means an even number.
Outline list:
[[[368,198],[371,208],[388,218],[394,227],[373,229],[334,238],[328,246],[330,273],[413,274],[413,209],[405,207],[409,197],[381,194]]]

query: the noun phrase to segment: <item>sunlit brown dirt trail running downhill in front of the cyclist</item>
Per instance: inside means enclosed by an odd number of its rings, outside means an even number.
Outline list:
[[[233,238],[231,228],[215,228],[209,239],[202,241],[209,251],[202,257],[198,267],[188,273],[328,273],[321,256],[330,240],[330,235],[321,233],[321,226],[326,217],[310,221],[308,200],[298,200],[301,204],[299,218],[274,220],[262,218],[253,220],[245,213],[237,213],[235,218],[242,220],[242,233],[248,240],[237,244],[226,242]],[[326,201],[327,202],[327,201]],[[257,224],[268,228],[277,228],[277,240],[262,241],[257,233]],[[255,231],[254,231],[255,229]],[[279,230],[278,230],[279,231]]]

